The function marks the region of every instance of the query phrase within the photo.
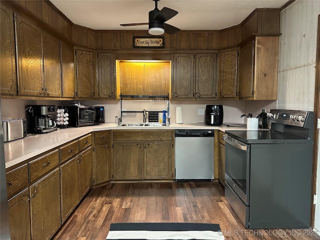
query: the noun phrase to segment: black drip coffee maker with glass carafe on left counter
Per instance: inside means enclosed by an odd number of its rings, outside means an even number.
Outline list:
[[[54,121],[54,105],[29,105],[28,107],[26,111],[27,133],[47,133],[57,129]]]

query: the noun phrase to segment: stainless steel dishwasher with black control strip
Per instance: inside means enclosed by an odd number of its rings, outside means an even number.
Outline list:
[[[213,130],[175,130],[175,179],[212,180]]]

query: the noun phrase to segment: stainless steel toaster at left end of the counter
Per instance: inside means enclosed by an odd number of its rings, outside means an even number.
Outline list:
[[[26,119],[2,120],[3,141],[12,141],[26,136]]]

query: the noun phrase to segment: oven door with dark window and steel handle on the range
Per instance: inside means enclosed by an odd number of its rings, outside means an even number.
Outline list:
[[[225,181],[240,197],[249,204],[250,145],[228,135],[225,140]]]

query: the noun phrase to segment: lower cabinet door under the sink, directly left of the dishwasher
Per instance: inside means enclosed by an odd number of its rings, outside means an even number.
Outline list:
[[[172,179],[172,142],[143,143],[143,179]]]

